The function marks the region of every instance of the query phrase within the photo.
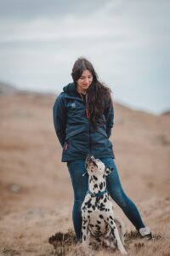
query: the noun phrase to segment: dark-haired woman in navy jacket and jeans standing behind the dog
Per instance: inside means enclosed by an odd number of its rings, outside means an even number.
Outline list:
[[[78,58],[72,73],[73,83],[66,85],[54,103],[54,127],[63,147],[62,161],[67,162],[74,190],[72,218],[77,241],[82,236],[82,201],[88,191],[88,177],[82,176],[87,154],[102,160],[113,168],[107,177],[111,198],[122,208],[142,237],[151,238],[137,207],[122,189],[109,140],[113,126],[114,109],[111,90],[99,82],[93,65]]]

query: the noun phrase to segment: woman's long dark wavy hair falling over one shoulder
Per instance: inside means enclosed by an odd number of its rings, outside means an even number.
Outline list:
[[[85,70],[88,70],[93,75],[92,84],[87,90],[88,112],[92,125],[94,128],[97,128],[101,122],[102,114],[105,112],[106,102],[107,105],[112,104],[111,89],[99,82],[98,75],[92,63],[83,57],[78,58],[72,68],[71,76],[76,85],[77,80],[80,79]]]

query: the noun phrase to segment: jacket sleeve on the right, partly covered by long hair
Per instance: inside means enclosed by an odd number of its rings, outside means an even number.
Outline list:
[[[107,103],[104,114],[106,120],[106,133],[107,137],[109,138],[111,137],[111,129],[114,125],[114,108],[112,101]]]

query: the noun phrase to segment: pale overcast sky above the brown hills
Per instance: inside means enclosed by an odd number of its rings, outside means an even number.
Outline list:
[[[59,92],[79,56],[114,99],[170,109],[169,0],[0,0],[0,80]]]

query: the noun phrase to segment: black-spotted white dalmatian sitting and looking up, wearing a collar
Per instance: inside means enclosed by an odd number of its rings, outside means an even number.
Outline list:
[[[114,218],[113,205],[106,190],[105,177],[112,170],[90,155],[86,159],[86,169],[88,193],[82,202],[82,245],[88,247],[89,241],[95,239],[127,254],[123,246],[125,226],[121,219]]]

